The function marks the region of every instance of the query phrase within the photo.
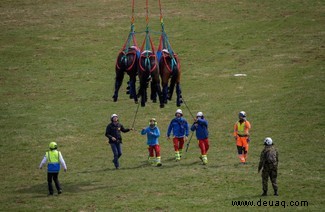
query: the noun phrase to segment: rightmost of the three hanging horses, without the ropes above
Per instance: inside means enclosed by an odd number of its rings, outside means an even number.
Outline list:
[[[159,70],[161,77],[163,102],[167,104],[167,100],[171,100],[176,85],[176,105],[179,107],[182,102],[182,90],[180,86],[181,69],[177,54],[173,53],[173,57],[167,49],[161,51],[159,59]],[[169,84],[169,86],[168,86]]]

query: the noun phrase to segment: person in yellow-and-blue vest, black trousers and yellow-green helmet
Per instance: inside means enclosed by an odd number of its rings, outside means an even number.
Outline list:
[[[53,195],[52,180],[54,181],[58,194],[61,194],[62,189],[59,182],[59,172],[61,168],[60,164],[63,166],[65,172],[67,171],[67,165],[65,164],[61,152],[57,150],[58,145],[56,142],[51,142],[49,144],[49,148],[50,150],[45,153],[45,156],[39,165],[39,168],[42,169],[43,165],[47,163],[47,183],[49,195]]]

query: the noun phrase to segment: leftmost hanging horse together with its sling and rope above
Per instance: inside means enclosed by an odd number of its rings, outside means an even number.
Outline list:
[[[113,101],[116,102],[118,99],[118,92],[123,83],[124,74],[127,73],[129,75],[128,82],[128,93],[130,95],[130,99],[134,99],[135,103],[138,103],[138,97],[136,95],[136,76],[138,73],[138,61],[140,56],[140,50],[138,48],[135,31],[134,31],[134,2],[132,5],[132,20],[131,20],[131,30],[129,36],[124,43],[122,49],[118,53],[115,65],[115,86],[114,86],[114,95]],[[133,41],[133,45],[131,44]]]

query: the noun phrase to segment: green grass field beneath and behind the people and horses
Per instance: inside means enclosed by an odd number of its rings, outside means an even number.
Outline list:
[[[137,111],[125,95],[127,78],[118,102],[111,98],[131,1],[3,0],[0,211],[324,210],[324,2],[162,0],[162,6],[181,59],[184,117],[192,123],[191,113],[202,111],[209,121],[209,164],[200,164],[194,136],[184,158],[173,160],[164,136],[177,109],[173,99],[163,109],[148,102],[135,119],[136,129],[158,120],[163,166],[147,165],[145,137],[129,132],[121,169],[114,169],[104,136],[109,116],[117,113],[131,127]],[[157,1],[149,7],[150,29],[158,32]],[[145,1],[135,3],[135,26],[141,44]],[[158,45],[158,34],[153,39]],[[232,138],[241,110],[252,124],[245,166]],[[280,154],[279,197],[260,197],[257,165],[266,136]],[[46,169],[38,165],[53,140],[68,172],[60,173],[63,194],[47,197]]]

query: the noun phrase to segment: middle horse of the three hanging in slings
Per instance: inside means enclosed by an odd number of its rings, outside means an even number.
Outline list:
[[[140,80],[140,88],[138,97],[141,97],[141,106],[144,107],[147,101],[147,88],[150,82],[151,96],[153,102],[157,101],[157,94],[159,97],[160,107],[164,107],[162,100],[162,92],[160,88],[159,66],[156,55],[150,51],[145,50],[141,52],[139,58],[138,76]]]

